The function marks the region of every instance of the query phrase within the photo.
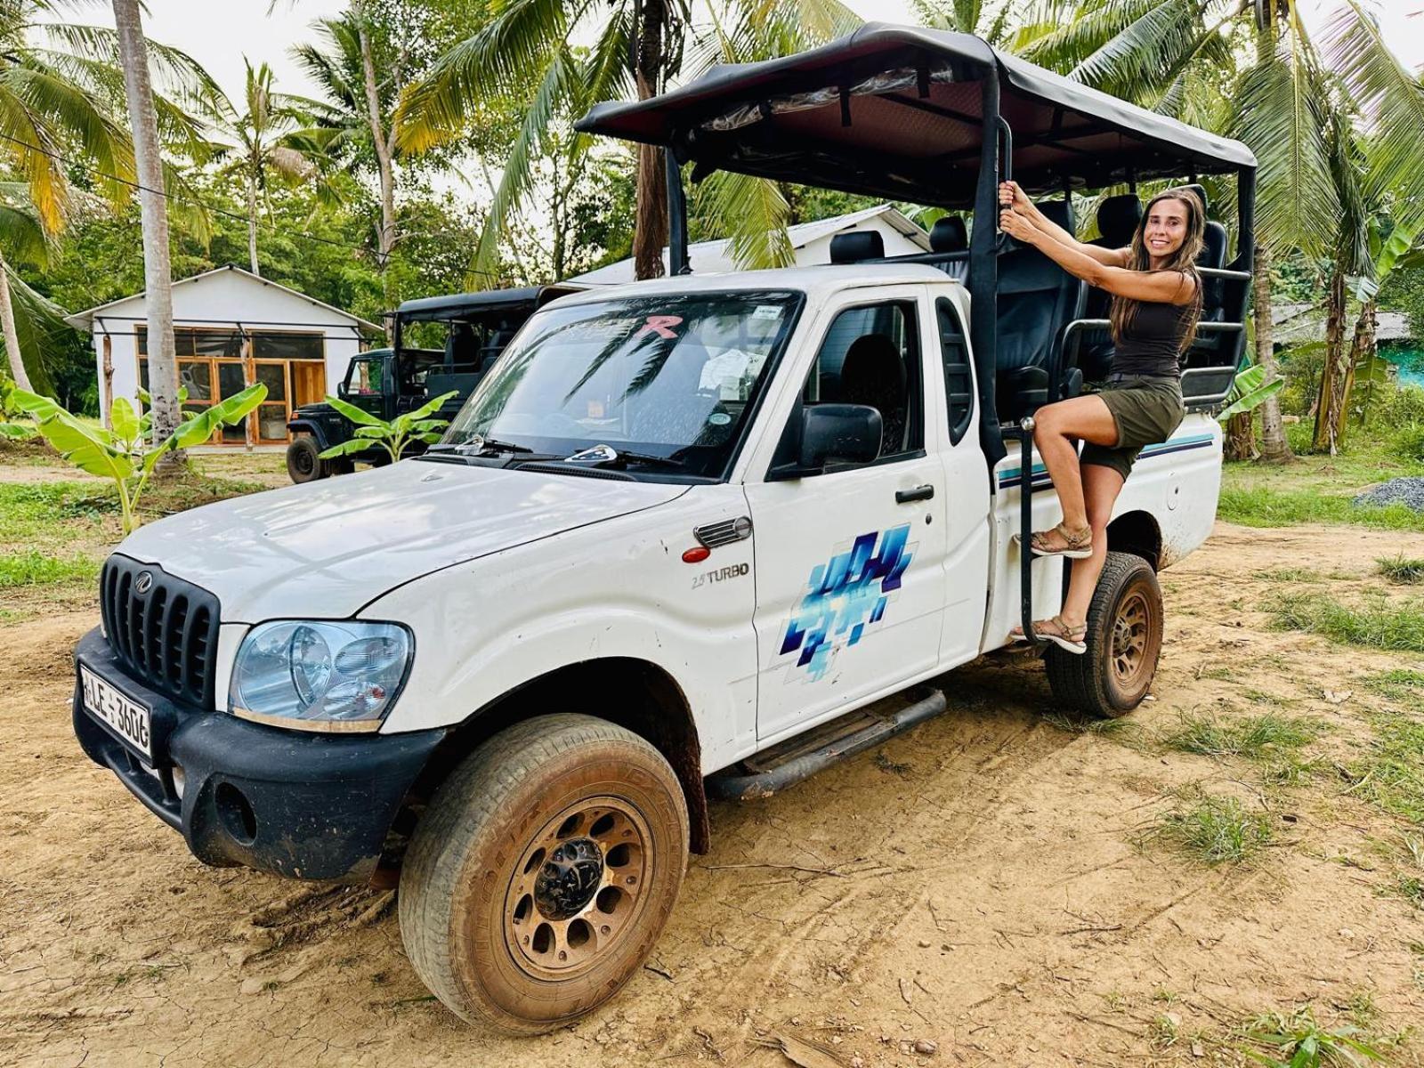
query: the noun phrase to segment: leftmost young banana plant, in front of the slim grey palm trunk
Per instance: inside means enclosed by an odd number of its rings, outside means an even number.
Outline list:
[[[58,453],[81,471],[111,478],[118,491],[124,534],[142,523],[138,501],[148,486],[158,460],[178,449],[192,449],[206,441],[219,426],[236,426],[266,399],[266,386],[258,383],[204,409],[157,446],[148,440],[152,412],[138,414],[128,397],[114,397],[108,417],[112,430],[66,412],[48,397],[16,387],[11,403],[38,423],[38,431]]]

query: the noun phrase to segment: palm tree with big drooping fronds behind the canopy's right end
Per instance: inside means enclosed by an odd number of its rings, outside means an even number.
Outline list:
[[[1233,48],[1233,46],[1240,46]],[[1185,88],[1223,67],[1237,71],[1223,132],[1247,145],[1257,172],[1256,359],[1274,377],[1270,350],[1270,249],[1323,255],[1341,204],[1331,179],[1329,111],[1347,97],[1376,141],[1381,188],[1407,189],[1424,174],[1424,90],[1386,46],[1368,0],[1340,0],[1317,41],[1299,0],[1045,0],[1024,54],[1166,114]],[[1237,57],[1249,61],[1242,67]],[[1413,187],[1418,188],[1418,187]],[[1287,459],[1274,399],[1263,409],[1266,459]]]

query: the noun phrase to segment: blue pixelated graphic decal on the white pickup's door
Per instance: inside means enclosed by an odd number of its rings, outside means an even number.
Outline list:
[[[849,553],[812,568],[806,595],[786,624],[782,654],[800,649],[796,666],[806,668],[813,681],[824,678],[842,644],[856,645],[866,627],[884,618],[890,594],[900,588],[900,577],[910,567],[909,538],[909,523],[862,534]]]

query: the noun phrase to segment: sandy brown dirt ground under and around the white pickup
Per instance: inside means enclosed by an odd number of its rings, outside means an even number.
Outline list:
[[[1222,524],[1163,575],[1131,728],[1055,726],[1037,664],[981,662],[881,750],[716,806],[649,964],[535,1040],[433,1001],[389,896],[206,869],[93,766],[68,723],[93,608],[3,628],[0,1064],[772,1068],[775,1035],[866,1068],[1242,1064],[1233,1028],[1304,1004],[1394,1035],[1424,1024],[1424,910],[1390,893],[1408,826],[1339,776],[1269,789],[1161,739],[1256,702],[1324,721],[1312,752],[1349,759],[1377,701],[1360,679],[1424,665],[1270,629],[1280,580],[1260,572],[1314,568],[1344,597],[1401,550],[1424,557],[1424,535]],[[1272,847],[1210,867],[1155,837],[1192,790],[1265,810]]]

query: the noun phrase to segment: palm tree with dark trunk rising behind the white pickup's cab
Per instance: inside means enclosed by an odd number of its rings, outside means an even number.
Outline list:
[[[530,189],[531,161],[550,130],[595,101],[629,91],[646,100],[664,91],[684,73],[685,56],[693,57],[696,73],[715,60],[765,58],[819,44],[860,21],[840,0],[705,0],[705,14],[711,33],[699,36],[688,0],[511,0],[406,91],[396,111],[396,147],[403,152],[451,141],[491,101],[528,100],[490,205],[476,273],[493,269],[498,239]],[[588,48],[571,44],[588,38]],[[570,150],[584,152],[591,142],[577,134]],[[711,214],[733,224],[733,249],[758,266],[766,265],[755,262],[759,256],[783,258],[785,242],[768,241],[763,225],[780,219],[785,228],[786,201],[775,185],[726,174],[711,181]],[[668,211],[662,152],[649,145],[638,147],[637,205],[635,272],[655,278],[664,271]]]

